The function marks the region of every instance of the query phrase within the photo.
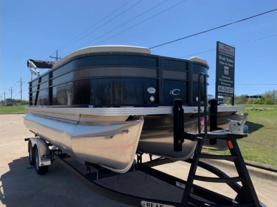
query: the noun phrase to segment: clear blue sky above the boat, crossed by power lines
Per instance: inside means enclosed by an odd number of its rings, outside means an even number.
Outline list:
[[[10,97],[11,87],[12,98],[20,99],[17,81],[22,79],[25,82],[22,98],[28,100],[27,60],[51,60],[49,56],[55,56],[57,49],[59,57],[64,57],[80,47],[93,45],[151,48],[276,8],[276,0],[2,0],[1,99],[4,92],[6,98]],[[151,52],[167,57],[206,59],[210,66],[208,93],[215,94],[216,41],[234,46],[235,95],[260,95],[277,89],[276,14],[269,12],[153,48]]]

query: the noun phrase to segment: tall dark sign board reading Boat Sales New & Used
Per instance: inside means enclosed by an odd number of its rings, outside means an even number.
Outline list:
[[[215,96],[234,97],[235,48],[217,41]]]

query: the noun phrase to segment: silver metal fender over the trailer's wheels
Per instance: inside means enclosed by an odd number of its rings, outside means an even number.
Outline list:
[[[42,155],[50,155],[50,150],[46,141],[41,138],[30,138],[29,141],[31,142],[33,148],[37,147],[37,152],[39,153],[39,167],[50,166],[51,159],[42,157]]]

